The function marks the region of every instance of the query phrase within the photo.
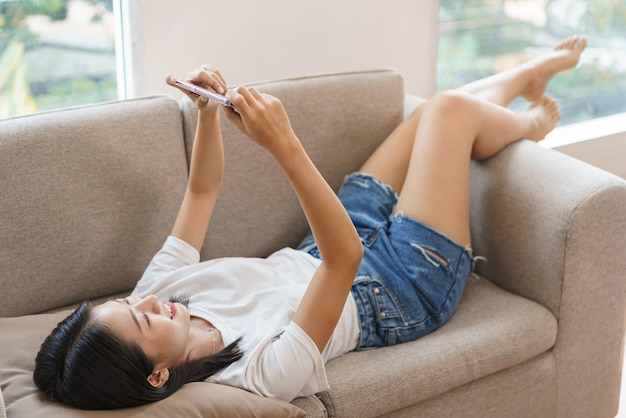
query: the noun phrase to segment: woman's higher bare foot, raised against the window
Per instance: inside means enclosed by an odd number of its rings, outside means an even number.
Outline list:
[[[580,55],[587,47],[587,39],[572,36],[561,41],[554,51],[534,58],[524,64],[524,67],[533,73],[531,81],[522,91],[522,97],[530,102],[541,99],[548,83],[561,71],[574,68],[580,60]]]

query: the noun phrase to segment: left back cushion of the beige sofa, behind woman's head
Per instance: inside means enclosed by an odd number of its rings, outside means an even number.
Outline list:
[[[168,97],[0,121],[0,316],[131,289],[186,178]]]

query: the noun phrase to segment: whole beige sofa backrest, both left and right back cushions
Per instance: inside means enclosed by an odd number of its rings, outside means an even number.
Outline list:
[[[391,70],[256,87],[284,103],[335,190],[403,117]],[[189,99],[149,97],[0,121],[0,317],[132,289],[173,225],[196,116]],[[306,222],[286,177],[225,117],[222,127],[225,181],[203,259],[297,245]]]

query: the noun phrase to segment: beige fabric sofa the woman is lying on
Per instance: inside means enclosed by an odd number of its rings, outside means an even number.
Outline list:
[[[393,71],[258,87],[283,101],[334,188],[405,112]],[[79,301],[133,287],[172,226],[194,129],[190,102],[168,97],[0,121],[0,416],[616,414],[626,182],[529,141],[472,167],[474,249],[487,261],[457,313],[419,341],[330,362],[330,391],[289,404],[202,382],[115,412],[42,399],[31,378],[39,344]],[[223,131],[225,183],[203,258],[296,245],[306,224],[278,166],[230,123]]]

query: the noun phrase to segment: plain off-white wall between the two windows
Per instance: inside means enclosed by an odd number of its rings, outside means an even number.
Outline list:
[[[127,0],[131,96],[179,95],[166,74],[201,64],[229,85],[394,68],[409,93],[435,90],[438,0]]]

